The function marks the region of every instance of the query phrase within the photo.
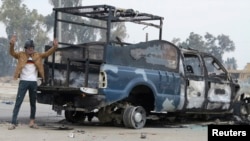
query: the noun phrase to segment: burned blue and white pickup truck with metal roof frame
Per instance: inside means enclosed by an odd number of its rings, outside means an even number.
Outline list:
[[[58,23],[97,28],[106,35],[105,41],[59,40],[61,46],[44,61],[46,79],[37,100],[64,111],[67,121],[96,116],[102,123],[140,129],[155,116],[238,115],[249,120],[249,98],[214,56],[162,40],[163,17],[109,5],[53,10],[55,38],[60,39]],[[69,21],[59,13],[105,24]],[[112,35],[112,24],[118,22],[156,28],[158,39],[123,42]]]

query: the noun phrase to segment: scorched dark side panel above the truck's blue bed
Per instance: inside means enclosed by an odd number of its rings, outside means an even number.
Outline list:
[[[108,64],[178,72],[179,49],[167,41],[108,46],[107,50]]]

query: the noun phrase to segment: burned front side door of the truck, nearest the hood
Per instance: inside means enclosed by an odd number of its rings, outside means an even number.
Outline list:
[[[207,110],[229,109],[232,89],[226,69],[213,56],[204,56],[207,73]]]

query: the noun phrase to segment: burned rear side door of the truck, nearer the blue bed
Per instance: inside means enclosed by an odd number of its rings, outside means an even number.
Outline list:
[[[200,110],[205,102],[204,68],[199,55],[184,53],[185,68],[185,108]]]

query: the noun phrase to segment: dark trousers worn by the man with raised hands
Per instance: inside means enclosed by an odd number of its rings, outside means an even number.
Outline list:
[[[20,107],[23,103],[23,99],[25,97],[26,92],[29,91],[29,99],[30,99],[30,119],[35,119],[36,114],[36,97],[37,97],[37,82],[36,81],[24,81],[20,80],[17,96],[16,96],[16,103],[13,110],[12,115],[12,124],[17,125],[17,116],[20,110]]]

